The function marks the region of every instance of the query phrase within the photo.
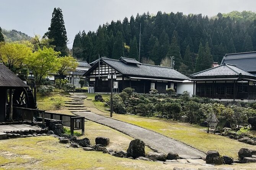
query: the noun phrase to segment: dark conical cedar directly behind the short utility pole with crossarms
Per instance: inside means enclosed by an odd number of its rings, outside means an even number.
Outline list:
[[[170,48],[169,48],[168,53],[167,53],[166,56],[168,56],[168,57],[174,56],[174,61],[175,61],[174,69],[179,71],[179,67],[181,66],[182,58],[181,58],[179,45],[178,45],[178,42],[177,42],[177,39],[176,39],[175,35],[171,39],[171,45],[170,45]]]

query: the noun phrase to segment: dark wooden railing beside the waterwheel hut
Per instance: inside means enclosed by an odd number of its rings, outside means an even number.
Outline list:
[[[74,134],[74,130],[82,130],[82,135],[85,134],[85,117],[45,112],[38,109],[13,107],[13,119],[31,121],[31,124],[33,125],[34,118],[36,117],[42,118],[42,125],[44,125],[45,119],[61,120],[63,126],[70,127],[72,136]]]

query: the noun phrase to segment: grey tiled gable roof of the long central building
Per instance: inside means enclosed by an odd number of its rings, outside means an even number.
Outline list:
[[[171,67],[154,66],[149,64],[126,64],[124,61],[109,58],[102,58],[102,61],[123,75],[189,80],[189,77],[181,74]]]

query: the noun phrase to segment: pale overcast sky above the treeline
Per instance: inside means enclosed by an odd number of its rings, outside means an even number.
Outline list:
[[[96,31],[99,24],[130,19],[137,13],[179,11],[214,16],[233,10],[255,12],[256,0],[0,0],[0,27],[44,35],[54,7],[62,9],[70,48],[79,30]]]

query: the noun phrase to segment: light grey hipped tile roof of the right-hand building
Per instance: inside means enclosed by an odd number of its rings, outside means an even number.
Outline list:
[[[191,77],[205,77],[205,76],[226,76],[226,75],[247,75],[247,76],[253,76],[253,74],[248,73],[234,65],[224,63],[217,67],[212,67],[210,69],[197,72],[195,74],[192,74]]]

